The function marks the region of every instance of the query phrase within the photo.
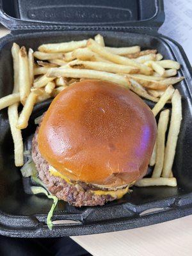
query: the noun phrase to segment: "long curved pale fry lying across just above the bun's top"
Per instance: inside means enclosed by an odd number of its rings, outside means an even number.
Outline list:
[[[97,70],[78,69],[78,68],[50,68],[47,72],[48,77],[73,77],[73,78],[90,78],[110,81],[122,86],[130,86],[129,79],[113,73],[102,72]]]

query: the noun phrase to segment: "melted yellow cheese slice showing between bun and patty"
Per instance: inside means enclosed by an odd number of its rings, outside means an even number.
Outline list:
[[[65,180],[68,184],[72,185],[72,182],[70,182],[70,179],[68,179],[65,175],[61,174],[60,172],[58,172],[54,167],[49,166],[49,172],[51,173],[51,175],[60,177],[61,179]],[[128,191],[129,191],[129,186],[123,189],[118,189],[116,191],[90,190],[90,192],[95,195],[99,195],[99,196],[110,195],[116,199],[122,198],[122,196],[124,196]]]

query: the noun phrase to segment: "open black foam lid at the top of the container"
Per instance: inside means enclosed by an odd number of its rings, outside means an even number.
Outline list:
[[[0,0],[0,22],[15,29],[158,29],[163,0]]]

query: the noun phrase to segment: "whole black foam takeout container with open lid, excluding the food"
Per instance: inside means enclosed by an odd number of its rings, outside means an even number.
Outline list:
[[[12,93],[10,49],[13,42],[36,50],[40,44],[82,40],[100,33],[109,46],[141,45],[143,49],[158,49],[165,59],[181,63],[179,75],[185,77],[175,86],[182,94],[183,108],[173,165],[177,188],[134,187],[131,194],[102,207],[77,208],[59,202],[52,218],[55,223],[52,231],[46,225],[52,200],[43,195],[31,195],[29,179],[22,179],[19,168],[15,168],[7,109],[0,111],[0,234],[77,236],[142,227],[192,214],[192,72],[180,45],[157,33],[164,20],[162,1],[1,0],[0,4],[1,22],[11,29],[10,35],[0,41],[1,97]],[[153,106],[152,102],[147,103]],[[48,106],[49,102],[36,105],[29,127],[22,132],[26,147],[35,132],[34,118]]]

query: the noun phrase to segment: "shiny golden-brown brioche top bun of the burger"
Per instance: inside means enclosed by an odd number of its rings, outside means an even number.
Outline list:
[[[40,153],[72,180],[118,187],[147,172],[156,120],[136,94],[84,80],[59,93],[38,132]]]

